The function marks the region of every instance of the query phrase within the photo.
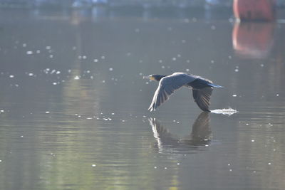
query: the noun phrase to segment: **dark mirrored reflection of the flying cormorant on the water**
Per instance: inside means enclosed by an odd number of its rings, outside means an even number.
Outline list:
[[[160,153],[179,152],[184,154],[192,152],[199,150],[202,146],[207,146],[212,139],[208,112],[202,112],[192,125],[192,132],[182,138],[175,137],[155,118],[150,118],[149,122],[152,126],[153,136],[157,141],[155,147]]]

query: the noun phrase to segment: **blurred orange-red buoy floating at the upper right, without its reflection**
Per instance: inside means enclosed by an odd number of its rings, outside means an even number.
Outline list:
[[[234,0],[234,16],[240,21],[274,21],[276,0]]]

